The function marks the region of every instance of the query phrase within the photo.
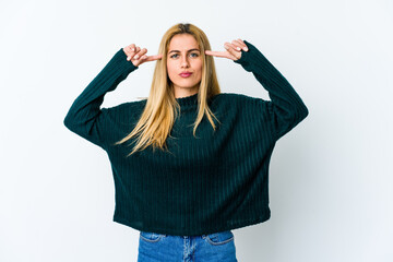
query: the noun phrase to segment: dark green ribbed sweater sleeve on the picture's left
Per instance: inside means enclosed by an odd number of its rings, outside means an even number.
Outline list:
[[[104,96],[114,91],[129,73],[138,69],[122,48],[115,53],[106,67],[74,100],[63,123],[72,132],[106,148],[104,130],[107,129],[108,109],[100,109]]]

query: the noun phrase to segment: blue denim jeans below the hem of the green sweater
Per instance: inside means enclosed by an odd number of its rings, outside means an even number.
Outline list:
[[[230,230],[202,236],[140,231],[138,262],[237,262]]]

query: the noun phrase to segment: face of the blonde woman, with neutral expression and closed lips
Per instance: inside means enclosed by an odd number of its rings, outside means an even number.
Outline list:
[[[194,95],[202,79],[202,57],[195,38],[190,34],[175,35],[169,43],[167,71],[174,83],[175,97]],[[188,72],[186,74],[182,74]]]

